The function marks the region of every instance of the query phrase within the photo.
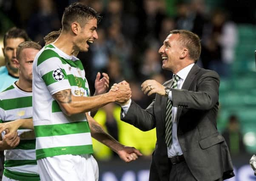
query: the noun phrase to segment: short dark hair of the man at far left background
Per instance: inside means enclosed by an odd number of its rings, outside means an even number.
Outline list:
[[[23,38],[24,41],[29,41],[28,34],[26,33],[25,30],[13,27],[9,29],[3,36],[3,47],[6,46],[6,40],[10,38]]]

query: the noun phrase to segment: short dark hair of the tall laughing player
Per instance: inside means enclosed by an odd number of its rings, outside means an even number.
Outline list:
[[[89,19],[96,18],[99,23],[102,17],[93,8],[85,6],[81,3],[72,3],[65,8],[62,16],[63,30],[67,31],[72,22],[78,22],[81,27],[88,22]]]

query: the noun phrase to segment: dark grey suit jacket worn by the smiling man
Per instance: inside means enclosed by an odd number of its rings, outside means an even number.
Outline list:
[[[171,86],[173,80],[165,82]],[[182,89],[172,89],[173,106],[177,109],[177,136],[186,163],[198,181],[214,181],[234,176],[225,139],[217,131],[219,75],[196,64],[189,72]],[[121,119],[142,131],[156,127],[156,149],[152,156],[150,181],[169,181],[165,143],[165,108],[168,97],[156,94],[147,109],[134,101]]]

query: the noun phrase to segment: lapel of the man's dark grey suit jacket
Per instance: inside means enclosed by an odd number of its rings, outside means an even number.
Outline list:
[[[197,72],[200,70],[200,67],[197,64],[194,64],[193,67],[191,68],[191,70],[188,73],[187,78],[185,79],[183,85],[182,85],[182,89],[188,90],[191,83],[193,82]],[[177,123],[179,123],[179,117],[181,114],[182,108],[177,108],[177,115],[176,115],[176,119],[177,119]]]

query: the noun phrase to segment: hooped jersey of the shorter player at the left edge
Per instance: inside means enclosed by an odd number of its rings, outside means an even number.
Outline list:
[[[0,122],[9,122],[17,119],[32,117],[32,92],[25,92],[12,84],[0,93]],[[29,129],[19,129],[23,134]],[[2,134],[3,136],[3,134]],[[20,135],[20,144],[12,149],[5,150],[3,174],[19,181],[39,181],[37,160],[35,154],[35,139],[23,139]]]

